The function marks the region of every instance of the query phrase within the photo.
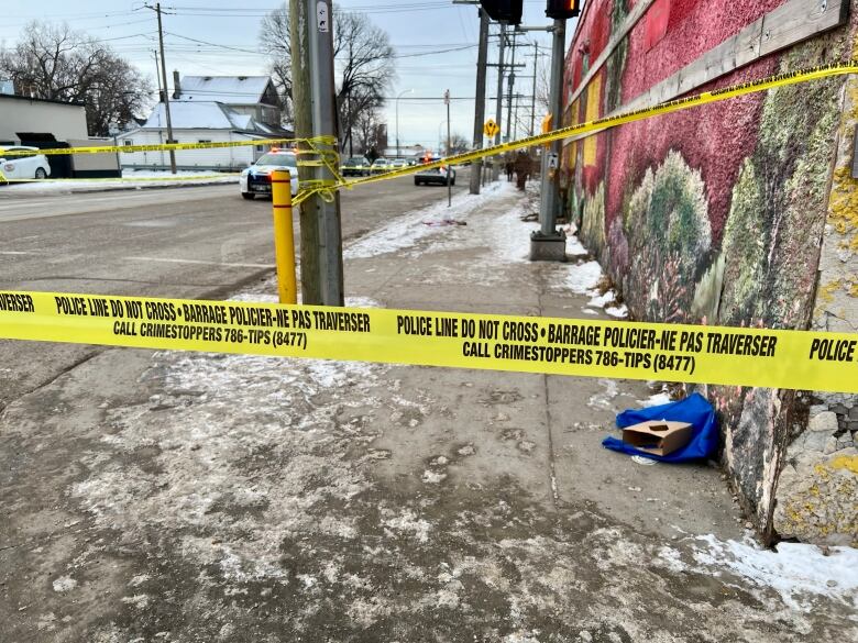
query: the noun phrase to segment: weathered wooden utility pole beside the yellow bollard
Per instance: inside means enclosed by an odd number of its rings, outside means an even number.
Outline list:
[[[312,15],[309,16],[312,19]],[[309,20],[307,2],[289,0],[289,36],[292,38],[292,106],[297,138],[312,137],[312,102],[310,98],[310,48],[307,42]],[[307,146],[301,144],[302,149]],[[298,181],[314,179],[310,167],[298,167]],[[301,300],[320,304],[321,273],[319,270],[319,202],[307,199],[300,204]]]

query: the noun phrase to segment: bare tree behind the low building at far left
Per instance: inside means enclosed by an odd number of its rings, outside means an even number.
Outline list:
[[[123,126],[148,102],[146,78],[110,47],[67,24],[34,21],[14,48],[0,49],[0,74],[19,93],[86,104],[90,135]]]

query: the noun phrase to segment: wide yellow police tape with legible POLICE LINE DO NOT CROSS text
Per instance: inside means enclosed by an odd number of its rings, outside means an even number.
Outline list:
[[[0,292],[0,339],[858,392],[858,334]]]

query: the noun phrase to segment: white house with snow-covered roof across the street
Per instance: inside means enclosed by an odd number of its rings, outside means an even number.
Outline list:
[[[234,143],[266,138],[292,138],[279,125],[280,107],[267,76],[211,77],[174,76],[176,89],[169,103],[173,138],[178,143]],[[167,142],[164,103],[158,103],[145,123],[117,136],[120,145],[152,145]],[[246,167],[268,146],[243,145],[211,149],[179,149],[180,169],[238,170]],[[122,154],[122,166],[164,169],[169,152]]]

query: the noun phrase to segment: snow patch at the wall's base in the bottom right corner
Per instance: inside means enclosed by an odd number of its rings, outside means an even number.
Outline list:
[[[694,559],[707,569],[726,568],[758,587],[771,587],[783,602],[809,612],[811,595],[858,609],[858,550],[820,547],[802,543],[781,543],[778,551],[756,544],[719,541],[713,534],[697,536],[705,547],[696,548]]]

